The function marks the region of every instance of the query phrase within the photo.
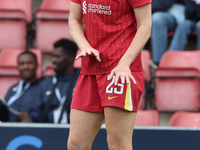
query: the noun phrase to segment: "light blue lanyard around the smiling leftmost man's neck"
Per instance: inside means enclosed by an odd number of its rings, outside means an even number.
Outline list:
[[[8,100],[7,106],[10,106],[12,103],[14,103],[18,98],[20,98],[24,92],[30,87],[31,82],[28,82],[25,87],[23,88],[24,80],[20,80],[18,87],[17,87],[17,92]]]

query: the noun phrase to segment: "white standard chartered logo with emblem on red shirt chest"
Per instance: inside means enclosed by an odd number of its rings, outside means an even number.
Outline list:
[[[88,6],[88,9],[87,7]],[[110,6],[104,6],[104,5],[97,5],[97,4],[88,4],[86,1],[83,2],[83,14],[88,13],[97,13],[97,14],[102,14],[102,15],[111,15],[112,11],[110,9]]]

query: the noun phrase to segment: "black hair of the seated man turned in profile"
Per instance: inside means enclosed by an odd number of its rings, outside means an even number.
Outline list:
[[[73,54],[74,56],[77,53],[78,47],[76,43],[69,39],[60,39],[54,43],[54,48],[62,47],[64,52]]]

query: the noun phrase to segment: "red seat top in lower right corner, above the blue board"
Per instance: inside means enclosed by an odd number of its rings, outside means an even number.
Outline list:
[[[169,126],[200,127],[200,113],[198,112],[175,112],[169,122]]]

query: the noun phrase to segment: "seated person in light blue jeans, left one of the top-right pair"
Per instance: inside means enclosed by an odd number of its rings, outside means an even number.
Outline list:
[[[153,0],[152,2],[152,54],[158,64],[167,49],[168,32],[174,31],[184,20],[183,0]]]

